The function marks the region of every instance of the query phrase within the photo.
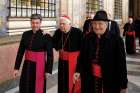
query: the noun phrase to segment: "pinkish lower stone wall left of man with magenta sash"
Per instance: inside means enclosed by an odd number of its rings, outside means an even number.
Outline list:
[[[18,43],[0,46],[0,83],[12,79]]]

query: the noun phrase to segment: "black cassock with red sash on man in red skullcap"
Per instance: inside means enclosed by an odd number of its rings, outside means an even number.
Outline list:
[[[72,93],[73,74],[81,45],[81,30],[71,27],[68,33],[56,30],[53,43],[59,51],[58,93]]]

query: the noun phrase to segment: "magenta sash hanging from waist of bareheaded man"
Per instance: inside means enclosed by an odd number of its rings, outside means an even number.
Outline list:
[[[25,60],[36,62],[35,93],[44,93],[45,52],[25,51]]]

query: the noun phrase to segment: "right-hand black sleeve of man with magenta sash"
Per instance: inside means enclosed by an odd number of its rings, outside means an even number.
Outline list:
[[[45,72],[52,74],[53,69],[53,45],[52,45],[52,37],[50,35],[46,35],[45,39],[45,49],[47,51],[47,60],[45,61]]]

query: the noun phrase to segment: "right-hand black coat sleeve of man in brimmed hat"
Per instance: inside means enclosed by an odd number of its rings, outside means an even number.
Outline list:
[[[120,77],[120,87],[121,89],[127,88],[127,66],[126,66],[126,54],[125,54],[125,48],[124,48],[124,42],[122,38],[120,37],[118,39],[118,51],[117,51],[117,61],[118,61],[118,69],[119,69],[119,77]]]

